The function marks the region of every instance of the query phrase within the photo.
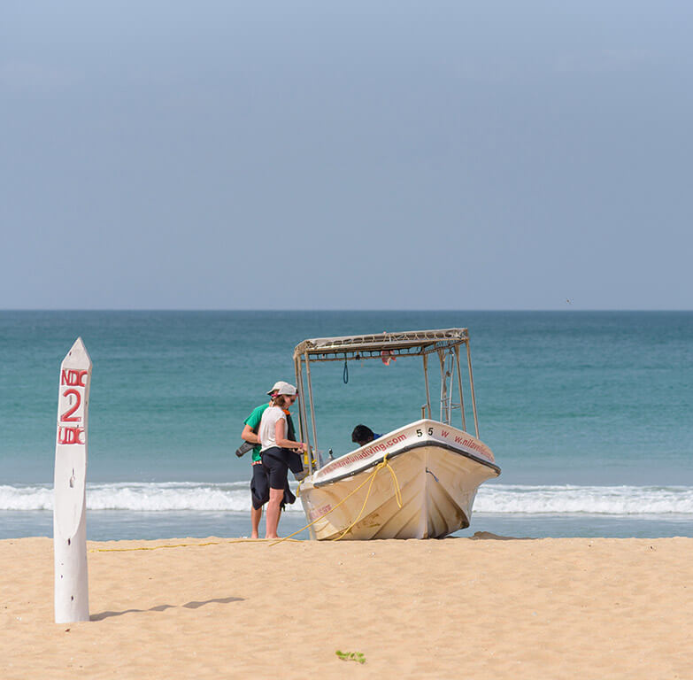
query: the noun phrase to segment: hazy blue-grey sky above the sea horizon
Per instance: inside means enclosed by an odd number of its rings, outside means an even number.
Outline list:
[[[689,2],[0,3],[0,309],[693,309]]]

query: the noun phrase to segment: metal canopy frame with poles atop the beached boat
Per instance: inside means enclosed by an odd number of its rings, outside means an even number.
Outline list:
[[[316,468],[313,454],[318,452],[318,432],[315,422],[315,407],[312,398],[311,364],[322,361],[360,361],[364,359],[397,359],[399,357],[420,356],[423,360],[424,381],[426,383],[426,404],[421,406],[421,418],[431,418],[431,396],[428,387],[428,358],[437,354],[441,368],[441,416],[440,420],[450,424],[452,410],[458,408],[462,416],[462,429],[466,431],[465,403],[462,390],[462,373],[459,366],[459,349],[466,346],[466,363],[469,375],[469,389],[474,413],[474,431],[479,438],[479,421],[474,396],[474,375],[472,357],[469,349],[467,328],[438,328],[433,330],[412,330],[401,333],[378,333],[366,336],[318,337],[304,340],[294,349],[294,368],[298,390],[298,418],[302,441],[308,444],[308,472],[312,475]],[[305,375],[305,379],[304,379]],[[455,377],[459,401],[452,402]],[[450,379],[450,389],[448,380]],[[307,396],[307,404],[306,404]],[[308,430],[308,415],[312,432]],[[312,437],[311,437],[312,435]],[[320,457],[317,457],[320,460]]]

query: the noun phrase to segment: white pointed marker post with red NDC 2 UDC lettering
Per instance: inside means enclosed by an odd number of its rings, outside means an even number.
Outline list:
[[[56,623],[89,621],[87,415],[91,359],[78,337],[60,366],[53,549]]]

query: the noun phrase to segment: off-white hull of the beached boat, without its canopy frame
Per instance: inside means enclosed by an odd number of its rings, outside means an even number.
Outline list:
[[[436,421],[417,421],[377,442],[304,480],[300,498],[314,522],[312,537],[448,536],[469,526],[479,485],[500,474],[485,444]]]

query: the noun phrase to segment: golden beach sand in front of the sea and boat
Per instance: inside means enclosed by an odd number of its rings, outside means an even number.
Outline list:
[[[4,680],[693,677],[691,538],[88,548],[92,620],[56,624],[52,541],[0,541]]]

